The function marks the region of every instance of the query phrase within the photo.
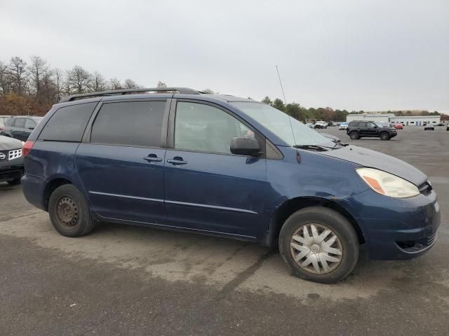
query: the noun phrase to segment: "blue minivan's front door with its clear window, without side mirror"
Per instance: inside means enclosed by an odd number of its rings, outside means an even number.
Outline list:
[[[234,155],[233,137],[262,137],[220,106],[177,102],[170,113],[165,163],[167,220],[203,232],[253,238],[262,225],[266,181],[264,154]],[[175,118],[174,118],[175,117]]]

